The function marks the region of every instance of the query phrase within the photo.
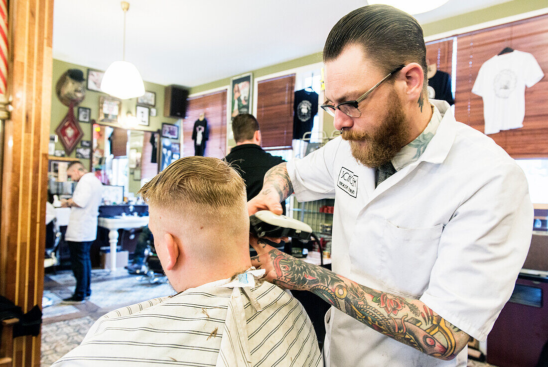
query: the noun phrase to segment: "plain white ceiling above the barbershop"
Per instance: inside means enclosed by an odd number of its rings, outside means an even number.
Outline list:
[[[509,0],[449,0],[421,24]],[[125,59],[145,81],[187,87],[319,52],[365,0],[130,0]],[[55,0],[53,58],[105,70],[122,59],[119,0]]]

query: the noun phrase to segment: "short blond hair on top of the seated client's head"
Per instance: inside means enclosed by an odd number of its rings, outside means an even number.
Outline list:
[[[138,192],[147,203],[181,216],[235,223],[246,209],[246,186],[229,164],[213,157],[175,160]]]

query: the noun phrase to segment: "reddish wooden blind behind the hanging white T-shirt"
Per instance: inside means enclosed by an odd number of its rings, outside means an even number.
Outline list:
[[[484,62],[511,47],[533,54],[548,72],[548,15],[466,33],[457,37],[455,117],[457,121],[484,131],[483,100],[472,93]],[[548,157],[548,78],[525,91],[523,128],[488,135],[513,158]]]

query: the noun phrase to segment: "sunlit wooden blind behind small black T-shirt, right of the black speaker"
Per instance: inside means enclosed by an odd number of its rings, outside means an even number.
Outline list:
[[[226,156],[226,89],[215,93],[187,99],[186,117],[182,122],[183,146],[181,157],[194,155],[192,130],[203,112],[206,114],[209,140],[204,156],[224,158]]]

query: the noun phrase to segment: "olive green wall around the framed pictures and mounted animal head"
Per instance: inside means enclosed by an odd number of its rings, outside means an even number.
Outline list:
[[[57,97],[55,93],[55,84],[61,77],[62,73],[67,71],[68,69],[80,69],[84,72],[84,78],[87,78],[88,74],[88,67],[82,66],[82,65],[76,65],[76,64],[70,64],[69,62],[61,61],[61,60],[53,60],[53,83],[52,83],[52,113],[51,113],[51,120],[49,125],[49,133],[55,134],[55,129],[59,126],[61,121],[65,118],[68,107],[63,105],[61,101],[59,101],[59,98]],[[156,117],[150,117],[150,125],[148,127],[139,127],[139,130],[150,130],[150,131],[156,131],[158,129],[162,128],[162,123],[170,123],[170,124],[177,124],[179,121],[175,118],[168,118],[163,117],[164,114],[164,85],[155,84],[155,83],[149,83],[145,82],[145,90],[147,91],[153,91],[156,93],[156,110],[157,114]],[[90,119],[94,119],[95,121],[99,122],[99,98],[100,96],[108,96],[105,93],[100,93],[98,91],[94,90],[86,90],[85,91],[85,98],[82,101],[82,103],[78,107],[88,107],[91,109],[91,116]],[[125,116],[127,112],[132,112],[135,115],[135,106],[137,104],[137,99],[132,98],[128,100],[122,100],[122,108],[121,108],[121,116]],[[78,120],[78,107],[75,107],[74,114],[76,117],[76,120]],[[92,139],[92,124],[91,123],[85,123],[85,122],[78,122],[82,130],[84,131],[84,137],[82,140],[91,140]],[[109,124],[109,123],[101,123],[102,125],[110,125],[113,127],[120,127],[119,124]],[[179,124],[180,128],[180,124]],[[182,134],[181,134],[182,136]],[[81,143],[78,143],[76,147],[80,147]],[[56,142],[55,144],[56,150],[64,150],[64,147],[62,146],[61,142]],[[72,151],[70,156],[67,157],[76,157],[76,148]],[[84,167],[89,168],[89,159],[81,159],[82,163],[84,164]]]

